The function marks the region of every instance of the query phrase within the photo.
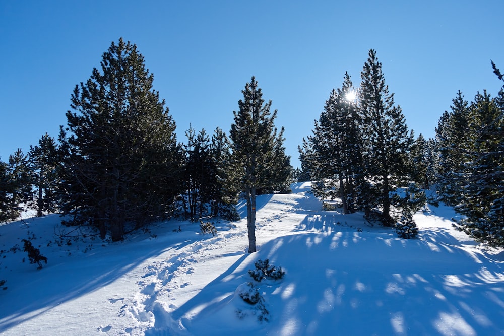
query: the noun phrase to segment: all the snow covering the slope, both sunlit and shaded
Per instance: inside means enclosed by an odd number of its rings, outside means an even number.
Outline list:
[[[453,209],[414,216],[417,239],[397,238],[362,214],[322,211],[309,183],[257,202],[258,252],[246,219],[169,221],[112,243],[81,238],[60,247],[57,215],[0,226],[1,335],[480,335],[504,330],[504,254],[452,228]],[[242,218],[243,205],[238,205]],[[234,227],[235,225],[235,227]],[[181,232],[178,232],[180,226]],[[21,239],[48,259],[42,270]],[[49,243],[51,241],[51,243]],[[26,258],[25,262],[22,262]],[[281,280],[254,282],[269,259]],[[252,286],[248,283],[252,282]],[[268,321],[240,293],[257,291]]]

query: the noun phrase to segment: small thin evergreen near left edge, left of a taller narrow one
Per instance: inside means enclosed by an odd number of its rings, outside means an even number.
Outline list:
[[[7,176],[9,219],[13,221],[19,218],[23,207],[32,199],[32,178],[28,155],[23,154],[20,148],[9,156]]]

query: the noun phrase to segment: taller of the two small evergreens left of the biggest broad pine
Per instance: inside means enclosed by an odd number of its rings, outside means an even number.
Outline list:
[[[59,178],[57,175],[58,146],[54,138],[45,133],[38,141],[38,146],[30,146],[28,155],[33,185],[36,189],[36,203],[33,208],[37,210],[37,216],[42,216],[43,212],[55,212],[55,190]]]

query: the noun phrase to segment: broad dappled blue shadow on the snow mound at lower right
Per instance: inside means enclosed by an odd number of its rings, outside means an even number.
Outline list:
[[[236,261],[173,317],[192,334],[236,331],[240,321],[225,307],[251,281],[253,261],[268,258],[287,273],[261,287],[271,321],[244,324],[248,334],[500,334],[502,262],[451,243],[442,230],[425,240],[331,230],[279,237]],[[194,314],[202,301],[211,304]]]

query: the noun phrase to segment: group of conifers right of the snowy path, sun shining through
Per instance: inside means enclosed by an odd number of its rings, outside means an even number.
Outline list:
[[[502,80],[492,62],[494,73]],[[363,211],[415,234],[412,215],[429,200],[444,201],[463,215],[455,226],[479,241],[504,245],[504,87],[473,102],[459,91],[439,119],[434,139],[409,131],[389,92],[376,52],[361,72],[359,87],[346,73],[331,91],[312,135],[299,147],[304,180],[323,198],[338,197],[344,213]],[[403,188],[402,194],[397,193]]]

